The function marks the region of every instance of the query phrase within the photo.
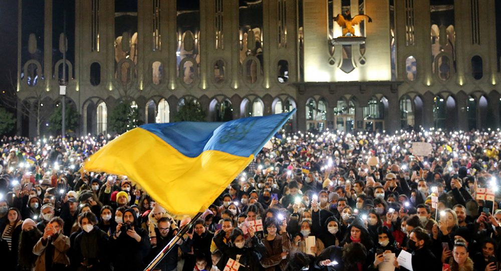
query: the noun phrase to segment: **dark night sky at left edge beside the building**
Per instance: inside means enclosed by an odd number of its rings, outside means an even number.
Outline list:
[[[18,1],[0,1],[0,89],[11,87],[8,79],[12,72],[14,79],[18,64]]]

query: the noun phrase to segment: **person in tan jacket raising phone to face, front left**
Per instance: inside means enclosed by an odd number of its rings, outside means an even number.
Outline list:
[[[37,255],[35,271],[68,270],[70,259],[66,254],[70,249],[70,238],[63,233],[64,221],[56,216],[49,221],[44,234],[33,247]]]

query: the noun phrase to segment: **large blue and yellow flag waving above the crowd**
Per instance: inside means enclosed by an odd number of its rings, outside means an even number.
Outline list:
[[[219,196],[294,111],[228,122],[145,124],[103,146],[84,169],[127,175],[170,213],[194,215]]]

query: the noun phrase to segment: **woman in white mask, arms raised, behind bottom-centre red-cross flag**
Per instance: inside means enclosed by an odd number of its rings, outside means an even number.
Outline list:
[[[234,228],[229,235],[230,242],[225,243],[223,241],[226,232],[220,230],[214,236],[214,243],[217,249],[221,250],[222,257],[217,262],[217,267],[219,270],[223,270],[224,266],[229,259],[236,260],[239,255],[238,262],[240,263],[240,268],[238,271],[258,271],[261,268],[259,259],[266,254],[266,248],[261,242],[261,240],[255,235],[255,229],[253,227],[248,228],[248,233],[250,239],[247,240],[249,243],[245,245],[245,239],[243,237],[243,232],[239,228]]]

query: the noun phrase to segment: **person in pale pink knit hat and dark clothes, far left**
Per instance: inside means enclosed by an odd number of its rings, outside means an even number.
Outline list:
[[[40,231],[36,225],[35,221],[30,218],[24,220],[22,226],[21,237],[19,239],[19,268],[24,271],[32,270],[35,266],[35,260],[37,256],[33,254],[33,246],[42,237],[42,231]]]

